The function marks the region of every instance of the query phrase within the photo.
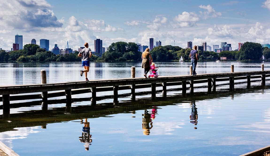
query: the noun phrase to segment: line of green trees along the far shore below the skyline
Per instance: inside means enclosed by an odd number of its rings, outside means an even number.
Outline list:
[[[150,51],[151,56],[155,61],[178,61],[181,56],[184,60],[189,60],[190,48],[181,48],[178,46],[166,45],[158,46]],[[55,55],[51,51],[46,51],[36,44],[26,44],[23,49],[18,51],[6,52],[0,50],[1,62],[75,62],[81,61],[78,57],[79,52]],[[202,60],[216,60],[220,57],[227,57],[232,60],[259,60],[264,55],[265,59],[270,58],[270,49],[262,48],[262,45],[254,42],[245,42],[240,51],[222,51],[220,53],[214,51],[200,51],[198,50],[198,59]],[[102,57],[92,55],[90,61],[140,61],[141,52],[138,51],[137,44],[134,42],[116,42],[112,43]]]

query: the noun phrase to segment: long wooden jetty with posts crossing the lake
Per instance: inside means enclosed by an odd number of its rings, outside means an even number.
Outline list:
[[[135,99],[135,89],[150,88],[151,97],[156,97],[156,87],[163,87],[163,95],[166,96],[167,86],[182,86],[182,94],[187,91],[187,84],[190,85],[190,92],[193,92],[193,85],[197,83],[207,83],[208,92],[215,91],[217,81],[229,81],[230,90],[234,89],[234,80],[247,79],[247,88],[251,85],[251,78],[261,78],[262,85],[265,85],[265,77],[270,77],[270,71],[264,71],[262,64],[261,71],[234,72],[234,65],[231,65],[231,72],[191,75],[192,66],[190,66],[190,75],[181,76],[161,76],[158,78],[135,78],[135,67],[131,67],[131,78],[118,79],[99,79],[90,81],[75,81],[62,83],[46,83],[46,71],[41,70],[41,84],[32,85],[11,85],[0,86],[0,95],[2,95],[3,115],[9,115],[10,101],[24,99],[42,99],[42,109],[48,109],[48,98],[66,96],[67,105],[72,102],[72,95],[92,92],[92,99],[96,101],[96,92],[113,91],[114,101],[118,99],[118,90],[129,89],[131,98]],[[81,89],[87,88],[87,89]],[[73,89],[73,90],[72,90]],[[80,89],[80,90],[74,90]],[[58,93],[49,93],[49,91],[63,91]],[[38,95],[18,95],[25,93],[41,92]],[[15,96],[10,96],[14,95]]]

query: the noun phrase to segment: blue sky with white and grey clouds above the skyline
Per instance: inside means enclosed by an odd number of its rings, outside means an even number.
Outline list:
[[[187,42],[220,45],[232,49],[239,42],[269,43],[270,0],[198,1],[198,0],[1,0],[0,48],[10,50],[15,35],[23,35],[23,44],[35,38],[49,39],[65,48],[66,42],[83,46],[103,40],[149,45],[149,38],[162,45],[187,47]]]

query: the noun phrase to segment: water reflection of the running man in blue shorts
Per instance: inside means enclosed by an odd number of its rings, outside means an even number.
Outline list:
[[[92,137],[92,135],[90,135],[90,127],[89,127],[89,122],[87,122],[87,118],[85,119],[85,122],[83,122],[83,120],[81,119],[81,124],[84,124],[83,129],[82,129],[82,136],[79,137],[81,139],[80,142],[85,143],[84,147],[85,150],[88,151],[89,150],[89,145],[91,145],[92,143],[92,139],[90,139]]]

